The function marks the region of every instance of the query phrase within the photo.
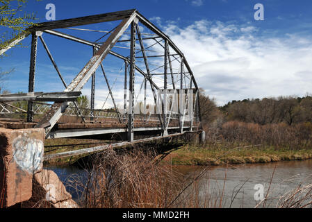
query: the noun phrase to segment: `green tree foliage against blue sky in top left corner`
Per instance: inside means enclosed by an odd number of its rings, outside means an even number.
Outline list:
[[[0,49],[27,34],[26,28],[34,25],[34,13],[21,15],[26,2],[27,0],[0,0],[0,26],[7,30],[0,35]]]

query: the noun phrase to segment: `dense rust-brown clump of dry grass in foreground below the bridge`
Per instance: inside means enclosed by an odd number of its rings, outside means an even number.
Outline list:
[[[95,155],[86,182],[69,182],[88,208],[166,207],[181,187],[179,173],[156,164],[142,151],[117,154],[109,149]]]

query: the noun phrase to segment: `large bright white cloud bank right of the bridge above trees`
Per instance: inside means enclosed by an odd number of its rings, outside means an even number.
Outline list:
[[[260,37],[254,26],[206,20],[163,31],[186,55],[199,87],[222,105],[233,99],[311,92],[312,40]]]

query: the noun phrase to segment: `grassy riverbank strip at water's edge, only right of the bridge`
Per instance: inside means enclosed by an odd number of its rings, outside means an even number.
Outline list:
[[[274,148],[272,146],[241,146],[224,148],[218,146],[194,146],[186,144],[172,151],[164,163],[172,165],[208,166],[222,164],[254,164],[289,160],[312,159],[312,149]]]

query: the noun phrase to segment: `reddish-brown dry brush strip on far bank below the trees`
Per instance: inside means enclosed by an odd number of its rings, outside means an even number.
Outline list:
[[[263,144],[291,149],[312,147],[312,123],[259,125],[229,121],[206,126],[208,143]]]

